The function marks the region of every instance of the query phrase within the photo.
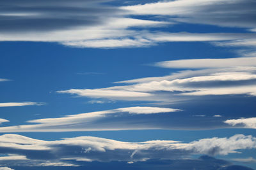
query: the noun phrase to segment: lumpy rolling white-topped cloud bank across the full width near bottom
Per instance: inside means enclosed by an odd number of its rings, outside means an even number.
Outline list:
[[[29,141],[15,143],[15,138],[18,141],[20,138],[28,139]],[[9,140],[1,141],[1,139]],[[256,148],[256,138],[244,136],[243,134],[237,134],[230,138],[200,139],[190,143],[161,140],[132,143],[91,136],[64,138],[56,141],[39,141],[33,144],[29,143],[30,141],[38,140],[16,134],[5,134],[0,136],[0,148],[2,152],[4,151],[3,153],[12,152],[17,155],[23,155],[22,158],[24,159],[15,161],[30,161],[31,164],[36,163],[38,166],[76,165],[70,163],[68,165],[65,160],[137,162],[147,159],[180,159],[181,157],[198,154],[227,155],[228,153],[237,153],[237,150]],[[6,143],[9,145],[6,145]],[[26,149],[24,149],[24,146],[26,146]],[[38,150],[38,148],[45,149]],[[84,152],[86,148],[90,148],[90,152]],[[29,160],[25,158],[29,158]],[[41,161],[40,164],[36,162],[38,160]],[[56,164],[58,160],[59,164]],[[0,160],[1,163],[4,161],[12,160]]]

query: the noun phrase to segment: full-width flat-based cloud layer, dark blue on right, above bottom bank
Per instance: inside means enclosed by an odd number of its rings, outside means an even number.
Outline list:
[[[58,118],[28,120],[26,124],[2,126],[0,132],[72,132],[72,131],[121,131],[143,129],[225,129],[237,128],[236,124],[246,124],[255,128],[255,121],[227,120],[221,115],[205,115],[173,108],[130,107],[114,110],[80,113]],[[252,120],[251,120],[252,119]],[[254,121],[254,122],[253,122]],[[2,120],[8,122],[8,120]],[[241,127],[241,126],[240,126]]]

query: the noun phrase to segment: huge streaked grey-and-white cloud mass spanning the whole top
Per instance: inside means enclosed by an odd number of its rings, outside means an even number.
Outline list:
[[[216,41],[216,44],[227,41],[226,45],[244,41],[252,44],[256,39],[253,32],[162,31],[163,27],[183,23],[245,27],[253,31],[256,4],[250,0],[177,0],[133,6],[114,6],[100,0],[75,0],[72,3],[54,0],[47,4],[42,0],[26,0],[22,4],[4,0],[1,4],[0,41],[46,41],[79,48],[121,48],[173,41]],[[141,19],[145,15],[147,19]],[[156,31],[151,31],[152,28]]]

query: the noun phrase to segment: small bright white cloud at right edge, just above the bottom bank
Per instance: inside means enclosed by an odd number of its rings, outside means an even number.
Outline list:
[[[226,124],[236,126],[238,127],[244,127],[244,128],[250,128],[250,129],[256,129],[256,118],[239,118],[239,119],[230,119],[225,120]]]

